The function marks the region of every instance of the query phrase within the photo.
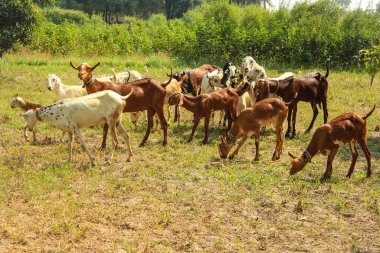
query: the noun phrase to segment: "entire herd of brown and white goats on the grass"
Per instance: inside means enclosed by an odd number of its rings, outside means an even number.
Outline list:
[[[156,114],[163,130],[163,145],[167,144],[168,124],[164,117],[164,105],[175,106],[175,119],[180,122],[179,107],[194,114],[192,132],[189,141],[193,139],[194,132],[200,119],[204,118],[205,136],[203,143],[208,142],[208,128],[210,119],[214,120],[214,111],[221,111],[219,124],[227,119],[227,131],[221,136],[219,155],[221,158],[233,159],[244,142],[255,135],[256,155],[259,159],[260,131],[267,125],[273,125],[276,130],[276,148],[272,160],[280,158],[284,141],[283,123],[288,116],[288,129],[285,136],[295,137],[295,123],[297,103],[310,102],[313,109],[312,121],[306,130],[309,132],[318,115],[317,105],[323,108],[324,125],[314,132],[314,135],[303,152],[302,156],[293,158],[290,174],[294,174],[311,161],[318,152],[328,155],[326,171],[322,177],[326,180],[331,177],[332,161],[340,144],[349,144],[352,153],[352,163],[347,174],[350,177],[358,157],[356,142],[362,148],[367,159],[367,177],[371,176],[371,154],[367,147],[366,118],[354,112],[344,113],[328,124],[327,90],[329,69],[325,75],[321,73],[308,73],[295,76],[291,72],[284,73],[278,78],[268,78],[265,69],[257,64],[250,56],[243,59],[241,70],[227,62],[223,69],[208,64],[191,70],[180,70],[168,75],[169,80],[161,83],[153,78],[145,78],[137,71],[125,71],[112,75],[94,77],[93,71],[100,63],[91,67],[87,63],[74,66],[78,77],[83,81],[80,85],[64,85],[55,74],[47,77],[47,88],[62,99],[61,101],[42,106],[34,104],[15,96],[12,99],[12,108],[20,107],[25,113],[24,138],[29,140],[26,130],[33,131],[33,141],[36,141],[36,124],[46,121],[68,133],[69,160],[72,160],[73,137],[78,138],[83,149],[87,152],[91,163],[94,157],[83,141],[80,128],[105,123],[103,129],[102,148],[106,147],[108,130],[112,135],[112,151],[118,145],[116,129],[123,136],[128,148],[127,161],[132,156],[129,134],[121,124],[123,112],[130,112],[132,122],[136,123],[139,114],[147,111],[148,126],[145,136],[140,144],[143,146],[149,138],[153,127],[153,117]],[[240,73],[239,73],[240,72]],[[191,93],[190,95],[184,95]],[[145,115],[145,113],[143,113]],[[62,136],[63,137],[63,136]],[[235,151],[229,154],[237,139],[240,139]]]

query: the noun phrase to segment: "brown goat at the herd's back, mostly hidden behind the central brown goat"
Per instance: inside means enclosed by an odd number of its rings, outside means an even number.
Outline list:
[[[181,79],[183,80],[181,85],[183,93],[192,93],[193,96],[196,96],[198,94],[198,88],[201,87],[203,76],[216,69],[218,69],[218,67],[203,64],[194,69],[180,70],[173,75],[173,78],[178,82],[180,82]]]

